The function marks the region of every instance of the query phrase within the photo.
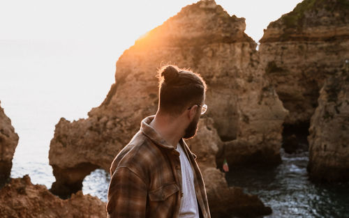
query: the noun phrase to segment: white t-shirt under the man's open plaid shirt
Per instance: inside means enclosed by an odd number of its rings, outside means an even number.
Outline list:
[[[179,152],[181,162],[181,184],[183,196],[179,207],[179,218],[199,218],[198,201],[196,200],[194,175],[191,163],[186,157],[183,148],[178,143],[176,150]]]

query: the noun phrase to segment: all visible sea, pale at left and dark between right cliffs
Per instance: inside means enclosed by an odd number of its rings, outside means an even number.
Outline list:
[[[121,52],[98,43],[0,41],[0,101],[20,137],[12,178],[29,174],[31,182],[50,189],[54,176],[48,160],[54,125],[87,118],[114,83]],[[349,217],[349,185],[309,181],[309,153],[281,150],[282,163],[230,169],[228,185],[257,194],[273,210],[266,217]],[[109,173],[96,169],[84,178],[82,192],[107,201]]]

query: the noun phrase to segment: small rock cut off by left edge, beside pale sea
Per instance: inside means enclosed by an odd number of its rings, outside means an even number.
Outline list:
[[[1,103],[1,102],[0,102]],[[0,187],[9,178],[18,135],[0,106]]]

